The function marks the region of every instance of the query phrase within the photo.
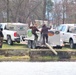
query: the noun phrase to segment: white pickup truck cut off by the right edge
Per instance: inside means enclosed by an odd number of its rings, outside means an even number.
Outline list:
[[[64,43],[68,43],[70,48],[76,46],[76,24],[61,24],[58,28]]]

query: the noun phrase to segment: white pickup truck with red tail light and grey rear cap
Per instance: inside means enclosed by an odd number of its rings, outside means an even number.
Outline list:
[[[0,23],[0,28],[3,28],[3,40],[12,45],[13,42],[20,43],[21,40],[24,40],[28,25],[24,23]]]

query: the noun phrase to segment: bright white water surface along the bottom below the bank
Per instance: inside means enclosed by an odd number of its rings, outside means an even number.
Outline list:
[[[0,75],[76,75],[76,62],[0,62]]]

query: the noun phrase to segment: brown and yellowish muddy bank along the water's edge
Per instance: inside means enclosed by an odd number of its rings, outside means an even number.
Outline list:
[[[55,55],[49,49],[0,49],[0,61],[75,61],[75,50],[56,50]]]

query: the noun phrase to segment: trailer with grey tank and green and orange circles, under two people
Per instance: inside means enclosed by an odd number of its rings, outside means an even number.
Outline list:
[[[41,29],[40,29],[41,30]],[[25,40],[27,40],[27,45],[28,48],[36,48],[36,47],[45,47],[42,45],[43,43],[43,39],[41,36],[40,32],[37,32],[38,35],[38,40],[34,40],[34,35],[32,34],[32,30],[28,29],[27,31],[27,37],[25,38]],[[48,32],[48,44],[52,47],[59,47],[62,48],[63,45],[63,41],[62,39],[60,39],[60,32],[57,30],[49,30]]]

